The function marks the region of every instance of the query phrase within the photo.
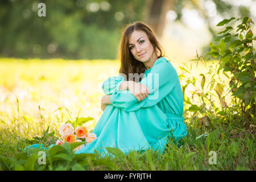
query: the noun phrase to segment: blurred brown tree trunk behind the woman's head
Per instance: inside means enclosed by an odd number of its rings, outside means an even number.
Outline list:
[[[144,21],[161,39],[166,24],[166,14],[172,10],[176,0],[150,0],[146,6]]]

